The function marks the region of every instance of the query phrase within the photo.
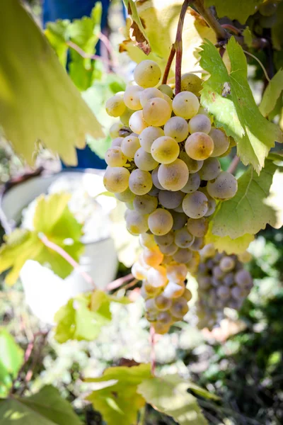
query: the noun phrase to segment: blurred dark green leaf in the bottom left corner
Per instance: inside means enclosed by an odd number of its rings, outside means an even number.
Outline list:
[[[81,425],[71,404],[47,385],[31,397],[0,400],[0,425]]]

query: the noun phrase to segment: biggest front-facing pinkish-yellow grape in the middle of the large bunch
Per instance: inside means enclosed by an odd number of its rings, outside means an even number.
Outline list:
[[[161,164],[158,169],[158,180],[167,191],[180,191],[187,183],[189,171],[185,162],[176,159],[171,164]]]

